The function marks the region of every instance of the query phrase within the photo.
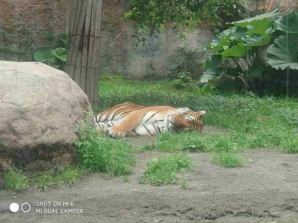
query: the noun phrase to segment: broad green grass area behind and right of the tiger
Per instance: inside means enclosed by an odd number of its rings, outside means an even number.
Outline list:
[[[160,151],[241,151],[242,149],[280,149],[298,152],[298,103],[294,98],[253,95],[220,95],[209,88],[167,88],[169,81],[132,81],[121,76],[102,76],[100,106],[104,110],[130,101],[144,106],[170,105],[206,110],[205,125],[222,127],[231,136],[165,134],[157,144],[141,150]],[[216,139],[219,137],[219,139]]]

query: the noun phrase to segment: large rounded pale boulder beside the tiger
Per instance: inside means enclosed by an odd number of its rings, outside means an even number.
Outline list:
[[[84,111],[93,114],[68,74],[38,62],[0,61],[0,86],[0,169],[74,162],[74,125]]]

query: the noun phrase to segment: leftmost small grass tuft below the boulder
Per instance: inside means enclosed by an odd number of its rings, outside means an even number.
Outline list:
[[[12,167],[4,172],[3,183],[7,190],[19,192],[30,187],[29,178],[15,167]]]

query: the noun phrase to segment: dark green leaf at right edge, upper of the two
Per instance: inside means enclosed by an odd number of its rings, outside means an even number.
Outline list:
[[[286,33],[298,33],[298,10],[293,10],[274,22],[277,29]]]

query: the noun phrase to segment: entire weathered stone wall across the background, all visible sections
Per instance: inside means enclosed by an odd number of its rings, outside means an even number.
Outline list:
[[[213,38],[210,29],[198,27],[193,34],[186,34],[186,40],[181,40],[169,28],[158,38],[148,37],[146,46],[136,48],[131,38],[134,22],[126,21],[123,16],[130,8],[130,1],[102,2],[101,73],[160,79],[186,68],[194,76],[202,74],[202,63],[209,56],[204,47]],[[249,0],[249,5],[259,12],[275,7],[287,12],[298,8],[298,0]],[[53,47],[55,44],[42,39],[41,35],[49,31],[67,33],[71,7],[72,0],[0,0],[0,60],[32,61],[38,47]]]

